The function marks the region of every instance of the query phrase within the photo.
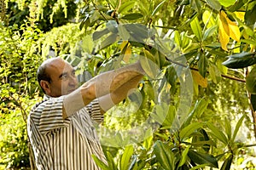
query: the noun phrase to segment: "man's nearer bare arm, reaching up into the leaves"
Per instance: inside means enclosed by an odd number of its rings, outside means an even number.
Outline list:
[[[122,87],[125,82],[129,82],[134,77],[142,76],[143,73],[142,66],[137,62],[117,70],[104,72],[88,82],[84,82],[80,88],[64,98],[63,117],[73,115],[85,105],[90,104],[93,99],[113,93],[113,91]]]

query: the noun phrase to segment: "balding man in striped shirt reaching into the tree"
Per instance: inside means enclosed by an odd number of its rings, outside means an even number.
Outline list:
[[[44,61],[38,82],[45,97],[28,117],[27,131],[38,169],[99,169],[105,161],[94,122],[125,99],[143,77],[139,62],[108,71],[78,88],[75,70],[61,58]]]

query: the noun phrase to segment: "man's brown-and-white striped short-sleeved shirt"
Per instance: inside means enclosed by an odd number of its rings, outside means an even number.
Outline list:
[[[63,97],[46,97],[28,116],[27,133],[38,169],[100,169],[91,157],[106,162],[94,127],[103,120],[97,100],[65,120],[62,105]]]

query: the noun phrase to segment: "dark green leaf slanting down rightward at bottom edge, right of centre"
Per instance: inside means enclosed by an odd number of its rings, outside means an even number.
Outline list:
[[[188,156],[192,161],[197,164],[208,164],[208,166],[210,167],[218,168],[218,161],[212,155],[189,150]]]

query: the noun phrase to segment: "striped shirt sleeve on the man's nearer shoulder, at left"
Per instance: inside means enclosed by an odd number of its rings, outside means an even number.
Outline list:
[[[54,129],[68,127],[70,120],[62,116],[63,98],[51,98],[44,101],[33,111],[34,121],[38,122],[40,133],[48,133]]]

